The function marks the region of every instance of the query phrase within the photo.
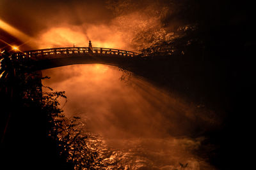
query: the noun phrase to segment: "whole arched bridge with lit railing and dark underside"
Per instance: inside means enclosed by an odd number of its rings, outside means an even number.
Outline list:
[[[120,66],[141,58],[136,52],[113,48],[66,47],[12,53],[11,60],[33,64],[36,69],[67,66],[71,64],[109,64]]]

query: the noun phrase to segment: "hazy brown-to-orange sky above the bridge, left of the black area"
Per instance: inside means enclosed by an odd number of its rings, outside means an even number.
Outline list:
[[[137,50],[133,39],[162,27],[169,8],[164,1],[1,0],[0,20],[30,38],[3,31],[3,26],[0,38],[12,45],[26,43],[22,50],[84,46],[89,39],[95,46]],[[143,39],[137,43],[143,44]]]

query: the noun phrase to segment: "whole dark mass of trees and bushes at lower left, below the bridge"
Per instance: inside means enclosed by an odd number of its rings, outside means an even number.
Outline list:
[[[2,67],[3,66],[3,67]],[[28,64],[1,62],[1,117],[11,114],[1,141],[1,155],[10,169],[42,164],[45,169],[83,169],[99,165],[97,143],[82,132],[78,117],[63,115],[58,100],[67,99],[65,92],[53,92],[42,85],[42,73],[31,71]],[[48,78],[48,77],[45,77]],[[46,88],[45,92],[42,88]],[[2,95],[3,94],[3,95]],[[7,130],[6,130],[7,129]],[[2,130],[2,128],[1,128]],[[17,155],[16,153],[19,153]],[[26,157],[31,158],[29,161]],[[8,162],[20,162],[8,164]],[[4,166],[3,164],[3,166]]]

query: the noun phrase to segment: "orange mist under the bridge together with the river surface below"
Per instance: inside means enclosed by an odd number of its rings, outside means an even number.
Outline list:
[[[185,103],[114,66],[57,67],[43,75],[51,77],[43,81],[45,86],[66,92],[67,103],[61,101],[61,106],[67,117],[81,117],[86,131],[99,134],[109,148],[130,154],[137,167],[173,169],[181,162],[190,169],[211,169],[194,154],[205,139],[200,133],[220,124],[204,106]]]

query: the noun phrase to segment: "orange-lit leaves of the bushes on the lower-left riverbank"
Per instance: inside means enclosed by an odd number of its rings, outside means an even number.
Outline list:
[[[66,98],[65,92],[44,92],[42,96],[42,110],[48,113],[49,136],[56,141],[60,156],[74,169],[92,169],[100,162],[97,149],[100,141],[83,131],[84,124],[79,117],[63,115],[58,102],[60,97]]]

